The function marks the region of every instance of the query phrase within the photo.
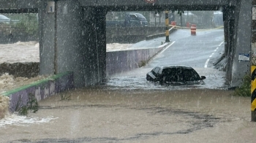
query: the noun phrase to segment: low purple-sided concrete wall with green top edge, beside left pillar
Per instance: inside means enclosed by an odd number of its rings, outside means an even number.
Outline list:
[[[74,77],[72,72],[65,72],[48,77],[45,80],[39,80],[29,85],[24,85],[20,88],[1,93],[3,96],[10,98],[10,112],[15,112],[15,107],[25,105],[28,101],[29,93],[34,94],[37,101],[40,101],[48,96],[53,96],[56,93],[74,88]]]

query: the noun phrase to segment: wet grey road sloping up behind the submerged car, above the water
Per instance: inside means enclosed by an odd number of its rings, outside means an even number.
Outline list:
[[[210,63],[224,51],[223,29],[197,32],[191,36],[187,30],[179,30],[170,36],[171,47],[168,47],[161,54],[154,58],[148,65],[151,68],[165,64],[185,64],[193,68],[204,68],[208,57],[212,54]],[[219,47],[217,49],[217,47]],[[208,64],[206,67],[213,67]]]

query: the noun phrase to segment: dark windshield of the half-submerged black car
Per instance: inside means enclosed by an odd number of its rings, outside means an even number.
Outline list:
[[[199,74],[197,74],[194,69],[181,67],[163,69],[162,76],[166,78],[167,82],[186,82],[200,80]]]

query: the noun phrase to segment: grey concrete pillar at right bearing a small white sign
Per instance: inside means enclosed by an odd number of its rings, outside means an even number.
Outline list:
[[[241,0],[235,9],[235,34],[233,50],[232,87],[238,87],[246,74],[250,73],[252,1]],[[248,56],[248,59],[241,60]]]

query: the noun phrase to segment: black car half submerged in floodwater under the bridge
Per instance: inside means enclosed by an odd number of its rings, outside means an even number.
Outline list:
[[[146,74],[146,80],[170,85],[191,85],[204,83],[201,76],[190,66],[156,66]]]

